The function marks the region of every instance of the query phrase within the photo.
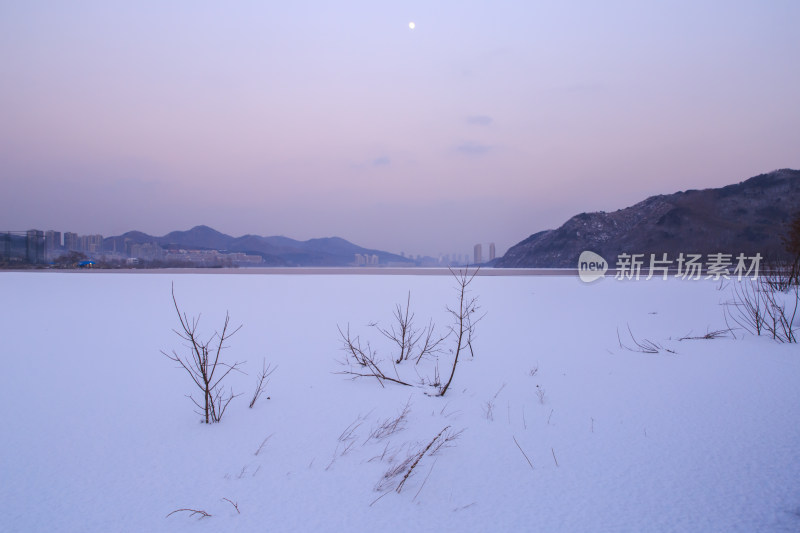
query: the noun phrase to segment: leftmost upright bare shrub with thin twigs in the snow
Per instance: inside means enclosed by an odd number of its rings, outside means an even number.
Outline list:
[[[225,313],[225,322],[222,326],[222,333],[214,332],[208,340],[202,340],[197,331],[200,324],[200,316],[193,317],[191,320],[186,313],[181,312],[178,301],[175,298],[175,286],[172,287],[172,302],[175,305],[175,312],[181,324],[181,329],[173,329],[178,337],[186,341],[189,354],[179,354],[175,350],[167,353],[161,351],[169,360],[178,363],[183,368],[192,381],[200,389],[203,399],[198,401],[191,394],[190,400],[199,409],[206,424],[216,423],[222,420],[225,410],[238,394],[233,390],[225,391],[222,384],[223,380],[233,371],[241,372],[239,366],[243,363],[226,363],[220,360],[222,350],[227,348],[225,342],[230,339],[242,326],[238,326],[230,331],[230,315]],[[216,342],[215,342],[216,339]]]

